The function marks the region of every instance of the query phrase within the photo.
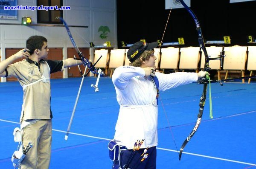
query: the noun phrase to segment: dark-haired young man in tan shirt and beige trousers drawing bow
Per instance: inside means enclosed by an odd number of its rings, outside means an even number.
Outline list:
[[[18,151],[22,157],[25,152],[26,157],[18,161],[17,166],[21,169],[49,168],[52,143],[50,74],[84,63],[73,58],[48,60],[48,53],[47,39],[32,36],[26,40],[26,48],[0,62],[0,77],[16,77],[23,88]],[[12,64],[20,58],[24,59]],[[32,147],[28,151],[29,145]]]

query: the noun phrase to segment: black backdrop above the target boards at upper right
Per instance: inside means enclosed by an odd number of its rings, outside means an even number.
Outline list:
[[[161,40],[170,10],[165,0],[117,0],[118,48],[121,41],[131,44]],[[191,0],[192,11],[201,25],[204,40],[223,40],[230,36],[230,45],[248,45],[247,36],[256,37],[256,1],[229,3],[229,0]],[[195,23],[185,8],[172,9],[163,42],[198,46]],[[253,44],[252,44],[253,45]],[[224,45],[225,46],[225,45]]]

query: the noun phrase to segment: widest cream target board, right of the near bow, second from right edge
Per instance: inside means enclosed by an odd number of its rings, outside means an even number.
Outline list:
[[[245,70],[247,46],[224,47],[224,51],[226,55],[223,63],[224,70]]]

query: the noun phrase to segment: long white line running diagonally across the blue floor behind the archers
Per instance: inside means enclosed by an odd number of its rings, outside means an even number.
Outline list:
[[[8,121],[8,120],[3,120],[3,119],[0,119],[0,121],[5,121],[5,122],[9,122],[9,123],[20,124],[20,123],[14,122],[14,121]],[[52,130],[53,130],[53,131],[56,131],[56,132],[64,132],[64,133],[67,132],[67,131],[56,130],[56,129],[52,129]],[[84,135],[84,134],[79,134],[79,133],[75,133],[75,132],[69,132],[69,133],[70,133],[70,134],[73,134],[73,135],[80,135],[80,136],[89,137],[89,138],[97,138],[97,139],[102,139],[102,140],[111,141],[111,139],[108,139],[108,138],[95,137],[95,136],[91,136],[91,135]],[[160,147],[157,147],[157,149],[161,149],[161,150],[165,150],[165,151],[169,151],[169,152],[177,152],[177,150],[165,149],[165,148],[160,148]],[[200,154],[195,154],[195,153],[190,153],[190,152],[183,152],[183,154],[195,155],[195,156],[200,156],[200,157],[205,157],[205,158],[212,158],[212,159],[222,160],[222,161],[229,161],[229,162],[233,162],[233,163],[247,164],[247,165],[250,165],[250,166],[256,166],[256,164],[253,164],[253,163],[245,163],[245,162],[241,162],[241,161],[235,161],[235,160],[229,160],[229,159],[225,159],[225,158],[212,157],[212,156],[208,156],[208,155],[200,155]]]

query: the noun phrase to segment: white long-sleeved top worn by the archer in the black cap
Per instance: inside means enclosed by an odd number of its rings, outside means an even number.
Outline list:
[[[165,91],[198,80],[197,73],[156,72],[159,90]],[[157,146],[157,90],[151,78],[145,78],[140,67],[120,66],[113,73],[116,99],[120,105],[114,140],[128,149],[145,139],[140,148]]]

